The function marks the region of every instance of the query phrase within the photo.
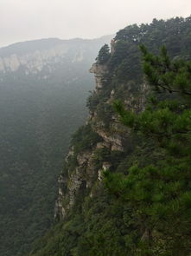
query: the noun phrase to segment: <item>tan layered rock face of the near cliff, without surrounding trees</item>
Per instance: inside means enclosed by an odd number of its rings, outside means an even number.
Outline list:
[[[112,41],[113,43],[113,41]],[[112,49],[113,51],[113,49]],[[96,62],[92,64],[90,72],[95,76],[95,90],[92,93],[93,98],[101,98],[105,91],[107,91],[106,84],[108,84],[107,75],[109,74],[109,67],[107,64],[99,64]],[[123,87],[124,85],[122,85]],[[90,109],[90,115],[86,121],[86,126],[90,126],[92,131],[99,135],[99,141],[90,145],[88,149],[82,150],[78,153],[75,152],[72,145],[69,154],[66,158],[66,165],[71,157],[75,157],[76,166],[66,168],[65,172],[60,175],[58,179],[59,194],[55,203],[54,218],[64,219],[67,213],[75,205],[75,201],[79,194],[86,194],[93,197],[93,186],[101,182],[102,172],[106,169],[112,169],[113,163],[110,160],[101,160],[96,163],[97,154],[101,150],[123,154],[130,143],[130,135],[127,128],[118,121],[118,116],[112,110],[112,102],[117,99],[115,96],[116,91],[114,87],[109,89],[105,98],[105,108],[111,108],[108,120],[105,121],[105,116],[100,115],[99,108]],[[139,92],[137,95],[137,91]],[[147,87],[145,84],[140,84],[136,92],[132,92],[131,84],[125,89],[125,94],[128,95],[124,98],[126,108],[135,112],[142,111],[144,108],[145,95]],[[100,102],[99,104],[102,104]],[[98,105],[99,105],[98,104]],[[66,178],[67,177],[67,178]]]

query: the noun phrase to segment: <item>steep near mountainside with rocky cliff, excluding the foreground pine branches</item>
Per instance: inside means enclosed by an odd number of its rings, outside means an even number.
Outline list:
[[[150,89],[143,79],[139,44],[157,53],[165,43],[171,57],[190,59],[190,23],[188,17],[131,25],[117,33],[109,58],[106,47],[99,51],[101,56],[90,69],[96,79],[96,89],[87,100],[90,116],[73,135],[58,180],[54,215],[59,221],[36,241],[30,255],[151,255],[132,254],[138,240],[148,234],[138,227],[141,224],[130,205],[124,205],[118,193],[108,193],[102,173],[109,169],[126,174],[132,165],[154,164],[164,155],[154,141],[145,141],[125,128],[112,103],[121,100],[126,109],[137,114],[143,111]],[[166,95],[158,97],[164,99]]]

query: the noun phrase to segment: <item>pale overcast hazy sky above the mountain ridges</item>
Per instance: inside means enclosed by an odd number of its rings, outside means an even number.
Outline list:
[[[46,37],[95,38],[154,17],[190,15],[191,0],[0,0],[0,47]]]

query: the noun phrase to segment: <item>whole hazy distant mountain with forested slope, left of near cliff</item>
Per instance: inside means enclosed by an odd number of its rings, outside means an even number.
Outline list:
[[[86,117],[90,64],[112,36],[0,49],[0,255],[23,255],[54,221],[57,177]]]

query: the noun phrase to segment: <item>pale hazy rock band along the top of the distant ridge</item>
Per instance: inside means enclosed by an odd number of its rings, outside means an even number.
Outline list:
[[[64,62],[82,62],[87,54],[94,52],[96,44],[109,43],[112,37],[102,36],[90,40],[48,38],[14,43],[0,49],[0,73],[15,72],[24,67],[28,75],[60,62],[60,59]]]

